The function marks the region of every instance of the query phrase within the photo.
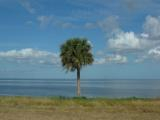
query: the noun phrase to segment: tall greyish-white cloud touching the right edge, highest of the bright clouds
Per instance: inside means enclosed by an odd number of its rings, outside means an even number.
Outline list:
[[[151,40],[160,40],[160,17],[147,16],[143,25],[144,32],[149,35]]]

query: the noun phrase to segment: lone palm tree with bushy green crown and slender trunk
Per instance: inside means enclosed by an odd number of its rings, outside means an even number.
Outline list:
[[[72,38],[61,45],[61,62],[67,71],[77,70],[77,96],[80,96],[80,71],[94,61],[91,44],[85,38]]]

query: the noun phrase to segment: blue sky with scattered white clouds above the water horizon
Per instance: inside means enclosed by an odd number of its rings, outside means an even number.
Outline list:
[[[87,38],[86,79],[160,79],[159,0],[0,0],[0,77],[76,78],[60,45]]]

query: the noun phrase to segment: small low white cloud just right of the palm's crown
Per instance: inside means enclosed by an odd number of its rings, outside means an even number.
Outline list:
[[[105,64],[105,63],[124,64],[127,62],[128,62],[127,57],[119,55],[119,54],[111,54],[111,55],[107,55],[103,58],[96,58],[95,59],[95,64]]]

